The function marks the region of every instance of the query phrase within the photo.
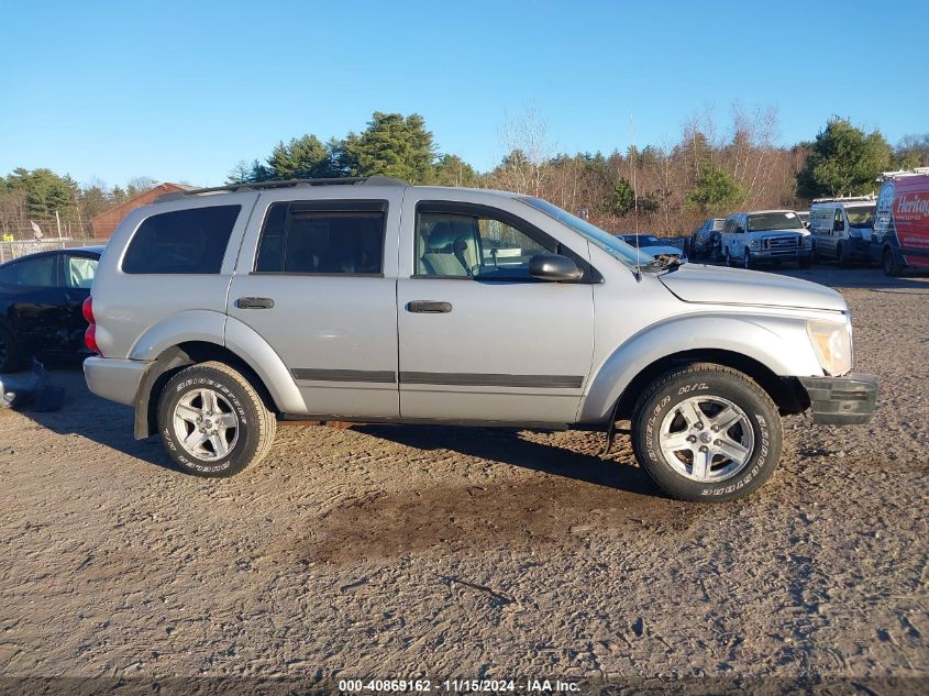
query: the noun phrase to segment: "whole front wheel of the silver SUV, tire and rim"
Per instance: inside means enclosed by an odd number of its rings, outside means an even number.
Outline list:
[[[725,431],[710,430],[723,413],[736,420],[728,428],[721,423]],[[655,379],[632,417],[635,459],[659,488],[679,500],[722,502],[749,495],[774,473],[782,441],[771,397],[745,374],[709,363]],[[710,457],[709,468],[695,471],[701,454]]]

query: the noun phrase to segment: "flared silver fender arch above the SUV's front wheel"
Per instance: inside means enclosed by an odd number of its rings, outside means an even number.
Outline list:
[[[626,387],[645,367],[696,350],[738,353],[779,376],[822,376],[804,319],[725,312],[670,318],[630,336],[595,369],[578,422],[605,422]]]

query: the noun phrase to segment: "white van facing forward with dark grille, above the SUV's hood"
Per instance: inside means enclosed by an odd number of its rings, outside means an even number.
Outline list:
[[[729,216],[722,225],[726,265],[796,263],[809,268],[810,234],[793,210],[759,210]]]

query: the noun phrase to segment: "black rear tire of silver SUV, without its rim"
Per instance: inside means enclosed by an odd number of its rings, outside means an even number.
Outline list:
[[[232,451],[215,462],[190,456],[176,441],[173,415],[177,402],[195,389],[210,388],[221,394],[239,417],[239,439]],[[231,375],[210,367],[188,367],[165,385],[158,399],[158,437],[168,456],[184,472],[195,476],[225,477],[241,472],[258,449],[258,418],[245,389]]]

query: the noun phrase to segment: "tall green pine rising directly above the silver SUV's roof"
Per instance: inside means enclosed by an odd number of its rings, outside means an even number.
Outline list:
[[[435,146],[425,121],[413,113],[375,111],[361,134],[349,133],[336,153],[338,167],[356,176],[384,175],[412,184],[433,174]]]

